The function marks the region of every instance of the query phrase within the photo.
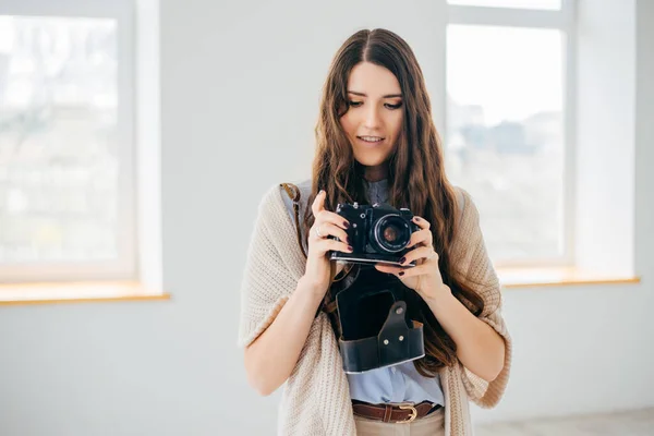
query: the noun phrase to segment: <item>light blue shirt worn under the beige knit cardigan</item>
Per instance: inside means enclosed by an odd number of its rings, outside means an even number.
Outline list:
[[[311,194],[311,181],[298,184],[301,191],[301,215],[304,214],[306,198]],[[287,209],[294,222],[293,203],[283,193]],[[384,203],[388,198],[388,183],[386,180],[368,183],[368,198],[371,204]],[[373,404],[386,402],[431,401],[445,404],[440,378],[422,376],[413,362],[404,362],[398,365],[366,371],[360,374],[347,374],[350,385],[350,397],[353,400],[370,402]]]

